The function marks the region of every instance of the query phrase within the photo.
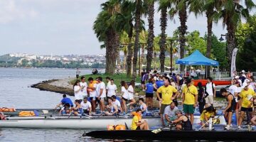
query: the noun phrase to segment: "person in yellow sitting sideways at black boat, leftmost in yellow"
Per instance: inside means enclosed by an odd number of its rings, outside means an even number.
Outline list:
[[[146,120],[142,121],[142,109],[137,109],[132,114],[134,115],[131,126],[132,130],[149,130],[149,124],[147,124]]]

